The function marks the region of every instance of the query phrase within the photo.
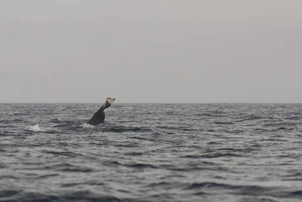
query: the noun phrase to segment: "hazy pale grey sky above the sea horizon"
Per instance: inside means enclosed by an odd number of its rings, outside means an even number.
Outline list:
[[[0,1],[0,103],[302,103],[301,0]]]

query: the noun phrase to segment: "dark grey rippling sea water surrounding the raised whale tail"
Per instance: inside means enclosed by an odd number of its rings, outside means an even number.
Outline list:
[[[0,200],[302,200],[302,105],[100,105],[0,104]]]

